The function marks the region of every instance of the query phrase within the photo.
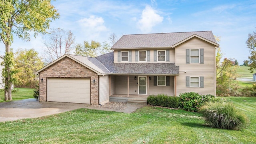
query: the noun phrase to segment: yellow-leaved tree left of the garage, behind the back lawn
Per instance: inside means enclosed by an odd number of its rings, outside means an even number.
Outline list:
[[[35,72],[44,66],[42,58],[38,56],[38,52],[33,48],[17,50],[15,55],[14,69],[18,70],[15,74],[17,84],[21,87],[35,88],[38,83]]]

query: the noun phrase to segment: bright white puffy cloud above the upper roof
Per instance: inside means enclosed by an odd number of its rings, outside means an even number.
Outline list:
[[[157,14],[151,6],[146,6],[142,11],[141,19],[138,21],[138,28],[142,32],[150,32],[153,26],[160,24],[163,21],[163,17]]]

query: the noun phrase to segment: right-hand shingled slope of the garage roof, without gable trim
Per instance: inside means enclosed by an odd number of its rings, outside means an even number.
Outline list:
[[[105,66],[103,66],[96,58],[86,57],[86,56],[76,56],[72,54],[68,54],[68,55],[102,74],[110,73],[110,71]]]

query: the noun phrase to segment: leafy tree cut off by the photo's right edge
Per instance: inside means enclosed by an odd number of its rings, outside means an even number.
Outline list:
[[[253,72],[256,69],[256,32],[252,32],[252,34],[248,34],[248,40],[246,41],[246,46],[249,48],[250,56],[250,71]]]

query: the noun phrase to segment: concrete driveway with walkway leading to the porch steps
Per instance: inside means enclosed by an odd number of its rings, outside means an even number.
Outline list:
[[[145,105],[126,104],[126,106],[127,108],[124,110],[112,110],[105,108],[94,108],[90,104],[76,104],[65,102],[37,102],[36,99],[30,98],[26,100],[18,100],[12,102],[1,102],[0,122],[9,120],[19,120],[24,118],[38,118],[41,116],[58,114],[61,112],[67,112],[78,108],[131,113]]]

